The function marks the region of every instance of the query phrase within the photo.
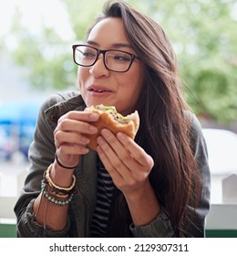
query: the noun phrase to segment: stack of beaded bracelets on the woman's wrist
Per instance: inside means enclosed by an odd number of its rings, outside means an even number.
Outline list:
[[[41,181],[41,191],[47,201],[56,206],[66,206],[72,200],[76,191],[76,177],[73,176],[70,187],[59,187],[50,178],[50,171],[53,165],[49,165],[44,173],[44,179]],[[60,199],[59,199],[60,198]]]

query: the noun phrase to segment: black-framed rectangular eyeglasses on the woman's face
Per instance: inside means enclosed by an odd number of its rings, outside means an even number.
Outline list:
[[[135,54],[123,50],[102,50],[87,45],[73,45],[72,48],[74,62],[82,67],[93,66],[100,53],[103,54],[105,67],[114,72],[127,72],[134,59],[139,59]]]

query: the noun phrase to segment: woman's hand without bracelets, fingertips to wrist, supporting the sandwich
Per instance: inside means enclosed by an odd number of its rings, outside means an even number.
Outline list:
[[[103,129],[98,137],[98,155],[124,195],[132,195],[147,186],[153,159],[125,133],[116,136]]]

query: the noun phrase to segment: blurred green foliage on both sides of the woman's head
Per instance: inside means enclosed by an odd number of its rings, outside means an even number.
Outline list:
[[[26,67],[32,86],[67,89],[77,84],[71,45],[84,39],[105,1],[61,1],[74,38],[51,27],[32,35],[15,12],[15,63]],[[130,0],[164,28],[176,51],[187,100],[195,113],[222,123],[237,120],[237,4],[231,0]],[[52,15],[53,10],[52,10]],[[58,17],[60,18],[60,17]]]

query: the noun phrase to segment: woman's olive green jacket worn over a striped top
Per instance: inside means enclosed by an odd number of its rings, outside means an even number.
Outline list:
[[[38,115],[34,141],[29,148],[30,168],[26,177],[22,195],[15,205],[18,237],[89,237],[90,220],[97,202],[97,153],[89,151],[81,156],[80,164],[75,169],[77,177],[77,193],[68,209],[67,227],[60,231],[44,227],[36,223],[33,214],[33,203],[40,193],[40,182],[43,173],[55,159],[54,130],[57,120],[66,112],[83,111],[85,102],[76,91],[67,91],[52,95],[42,105]],[[205,218],[210,208],[210,171],[207,160],[205,141],[201,126],[193,115],[193,130],[196,134],[194,148],[195,157],[201,170],[201,200],[195,212],[195,225],[188,237],[204,237]],[[134,237],[175,237],[175,232],[162,209],[157,219],[149,225],[130,225]]]

